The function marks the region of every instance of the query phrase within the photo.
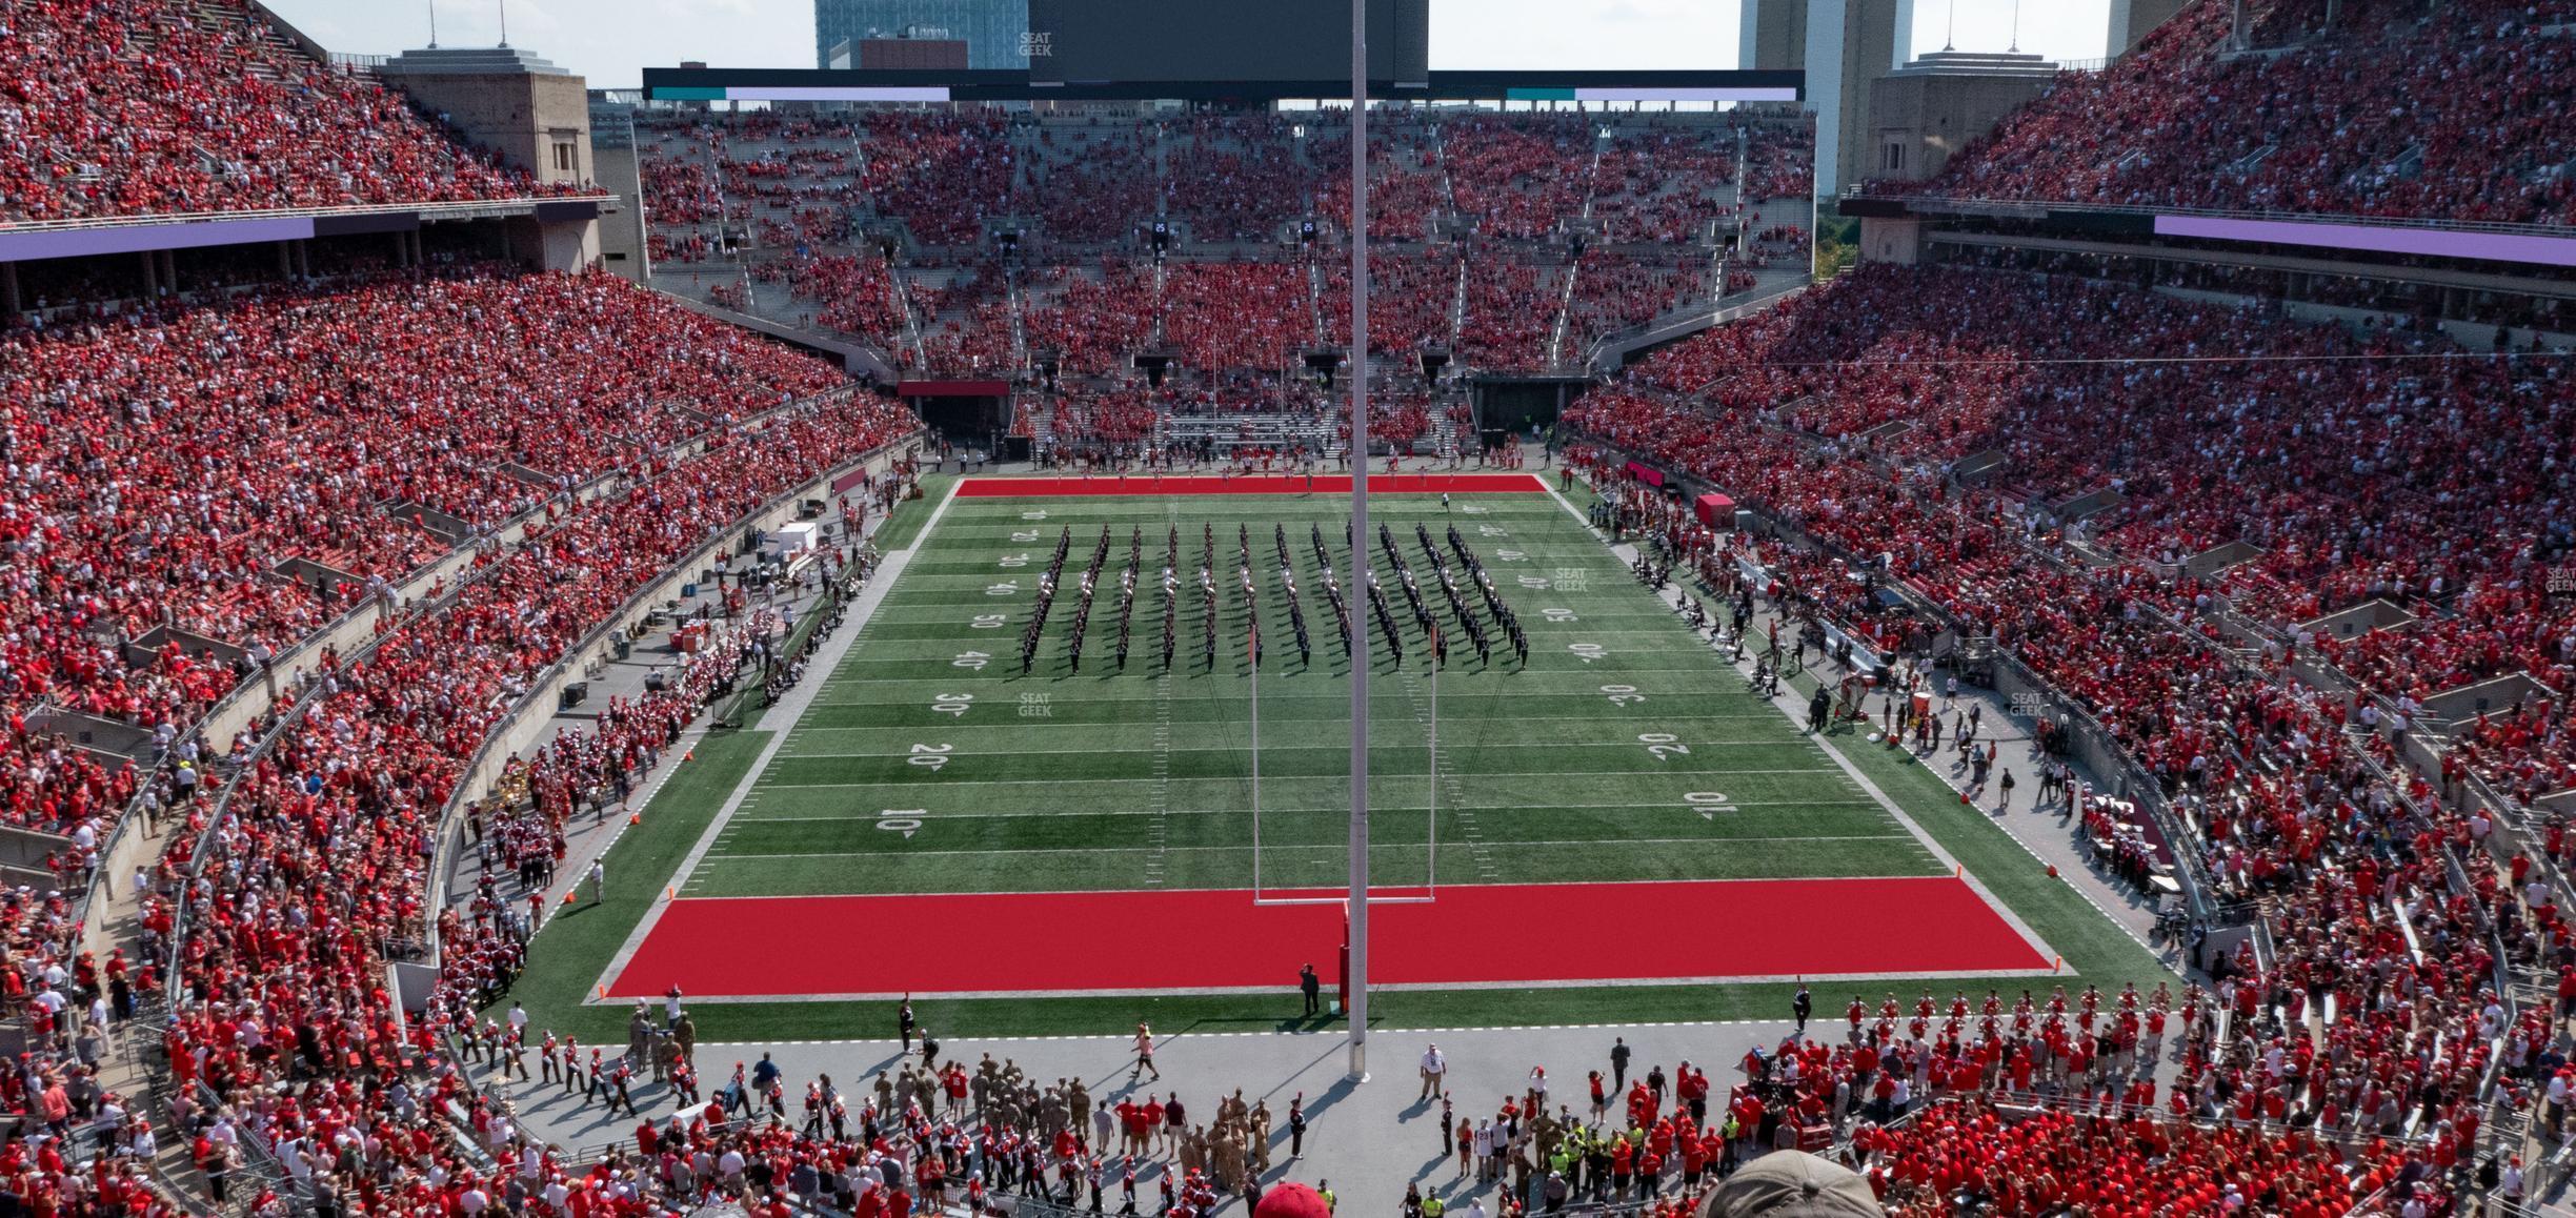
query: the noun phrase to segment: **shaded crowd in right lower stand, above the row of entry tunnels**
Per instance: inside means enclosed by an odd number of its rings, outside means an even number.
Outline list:
[[[2208,358],[2221,342],[2249,358]],[[1641,379],[1716,381],[1721,407],[1788,407],[1788,422],[1837,445],[1901,422],[1873,451],[1914,469],[1996,453],[1999,494],[2032,505],[2035,528],[2053,525],[2048,505],[2110,487],[2120,502],[2079,536],[2141,561],[2259,546],[2179,595],[2285,641],[2365,600],[2406,605],[2424,621],[2308,646],[2367,690],[2421,703],[2504,672],[2576,690],[2576,603],[2550,595],[2576,551],[2550,507],[2576,458],[2576,399],[2555,363],[2069,278],[1865,270],[1801,309],[1659,353]],[[2112,464],[2089,458],[2105,440]],[[2483,533],[2514,546],[2455,541]]]

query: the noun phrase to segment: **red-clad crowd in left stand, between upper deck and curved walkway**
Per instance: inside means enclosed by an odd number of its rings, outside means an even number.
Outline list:
[[[634,361],[629,342],[672,358]],[[103,829],[137,780],[28,726],[41,711],[167,747],[265,659],[459,538],[832,384],[623,281],[492,268],[165,301],[21,330],[0,353],[15,402],[0,816],[59,832]],[[554,409],[526,412],[533,399]],[[291,559],[332,574],[299,579],[281,572]],[[196,641],[155,644],[165,626]]]

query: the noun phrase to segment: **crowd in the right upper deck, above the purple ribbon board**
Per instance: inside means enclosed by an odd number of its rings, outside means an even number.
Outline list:
[[[2254,46],[2228,0],[2195,0],[2102,72],[2040,100],[1929,180],[1878,193],[2043,198],[2445,221],[2576,224],[2568,5],[2277,3]],[[2372,116],[2367,124],[2352,116]]]

